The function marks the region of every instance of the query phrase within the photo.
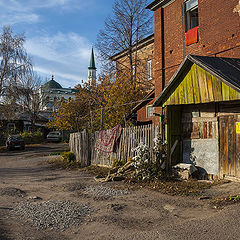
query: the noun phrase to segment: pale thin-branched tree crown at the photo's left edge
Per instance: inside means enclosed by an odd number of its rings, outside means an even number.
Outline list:
[[[0,96],[12,85],[18,84],[32,63],[24,49],[23,34],[14,34],[10,26],[4,26],[0,34]]]

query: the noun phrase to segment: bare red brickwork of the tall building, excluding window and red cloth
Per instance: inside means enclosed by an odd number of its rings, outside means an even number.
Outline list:
[[[233,13],[238,0],[198,0],[199,41],[185,46],[183,0],[176,0],[164,9],[157,9],[155,17],[154,79],[155,97],[162,91],[162,19],[164,20],[165,83],[171,79],[187,54],[240,58],[240,17]]]

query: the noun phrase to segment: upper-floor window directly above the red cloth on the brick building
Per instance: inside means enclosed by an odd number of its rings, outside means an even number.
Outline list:
[[[198,0],[188,0],[184,3],[185,31],[198,26]]]

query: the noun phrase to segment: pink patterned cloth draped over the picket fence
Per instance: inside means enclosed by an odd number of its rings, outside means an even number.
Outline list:
[[[113,152],[114,144],[120,137],[121,131],[121,125],[117,125],[113,129],[99,131],[95,148],[105,153]]]

